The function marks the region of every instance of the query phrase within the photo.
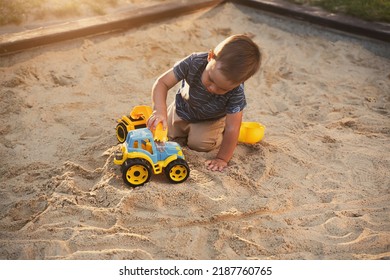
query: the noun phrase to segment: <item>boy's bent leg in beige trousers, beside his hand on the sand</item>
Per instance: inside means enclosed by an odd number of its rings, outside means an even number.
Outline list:
[[[221,145],[225,119],[191,123],[187,145],[190,149],[199,152],[208,152]]]

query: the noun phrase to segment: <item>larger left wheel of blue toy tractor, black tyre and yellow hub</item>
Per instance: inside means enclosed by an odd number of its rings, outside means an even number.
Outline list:
[[[123,163],[123,181],[132,187],[141,186],[149,182],[151,175],[152,168],[144,159],[128,159]]]

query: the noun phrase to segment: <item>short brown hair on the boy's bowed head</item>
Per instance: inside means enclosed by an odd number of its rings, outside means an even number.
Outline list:
[[[259,47],[247,35],[233,35],[215,47],[212,57],[220,62],[219,70],[231,82],[242,83],[260,68]]]

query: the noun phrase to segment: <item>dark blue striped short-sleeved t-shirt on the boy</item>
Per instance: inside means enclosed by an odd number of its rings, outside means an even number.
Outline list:
[[[201,80],[207,55],[193,53],[173,67],[176,78],[182,82],[176,94],[176,113],[188,122],[216,120],[238,113],[246,106],[244,84],[223,95],[207,91]]]

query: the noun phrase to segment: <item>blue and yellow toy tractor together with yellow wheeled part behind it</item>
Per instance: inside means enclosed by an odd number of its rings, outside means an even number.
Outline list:
[[[162,127],[154,134],[146,128],[151,114],[149,109],[137,106],[130,117],[118,120],[117,138],[122,145],[121,151],[115,154],[114,163],[121,166],[124,182],[133,187],[147,183],[152,173],[164,172],[171,183],[184,182],[190,175],[190,169],[183,151],[178,143],[165,141],[166,131]]]

